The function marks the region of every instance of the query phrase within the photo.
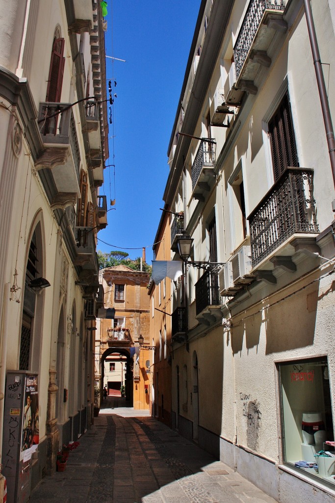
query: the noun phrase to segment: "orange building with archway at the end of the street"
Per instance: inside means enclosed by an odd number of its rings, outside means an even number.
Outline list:
[[[106,384],[108,392],[114,389],[114,379],[109,384],[105,382],[105,362],[123,359],[126,399],[135,409],[149,409],[150,403],[153,350],[140,348],[139,344],[141,334],[142,346],[149,344],[149,279],[149,273],[124,265],[100,271],[100,283],[105,292],[104,307],[115,309],[115,313],[114,319],[97,319],[95,382],[100,389]]]

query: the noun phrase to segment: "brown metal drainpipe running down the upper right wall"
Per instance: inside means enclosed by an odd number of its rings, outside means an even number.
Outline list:
[[[329,157],[330,157],[332,179],[333,179],[333,184],[335,187],[334,130],[332,127],[332,122],[331,122],[329,102],[328,102],[327,93],[326,93],[325,84],[324,84],[324,77],[323,77],[323,72],[322,72],[320,53],[319,53],[319,49],[318,49],[318,45],[317,45],[313,15],[312,15],[311,7],[310,7],[310,0],[303,0],[303,4],[304,4],[305,14],[306,14],[306,23],[307,23],[307,29],[308,29],[308,34],[309,34],[309,41],[310,41],[310,46],[312,49],[317,87],[319,90],[324,128],[325,128],[325,133],[326,133],[327,143],[328,143],[328,152],[329,152]],[[335,211],[335,200],[332,201],[331,204],[332,204],[332,211]]]

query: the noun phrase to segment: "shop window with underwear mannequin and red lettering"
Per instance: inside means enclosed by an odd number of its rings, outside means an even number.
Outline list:
[[[335,450],[326,357],[279,364],[284,461],[335,483]],[[312,464],[310,464],[312,463]]]

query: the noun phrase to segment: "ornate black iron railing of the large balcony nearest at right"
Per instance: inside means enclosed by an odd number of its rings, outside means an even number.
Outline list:
[[[289,167],[248,220],[253,267],[296,232],[318,232],[313,170]]]

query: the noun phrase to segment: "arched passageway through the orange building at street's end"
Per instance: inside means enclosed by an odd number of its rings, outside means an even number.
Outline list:
[[[133,358],[128,349],[108,348],[100,359],[101,382],[100,390],[106,386],[107,395],[121,396],[121,387],[124,386],[126,401],[129,406],[134,405],[133,392]]]

